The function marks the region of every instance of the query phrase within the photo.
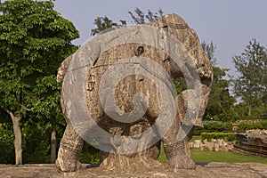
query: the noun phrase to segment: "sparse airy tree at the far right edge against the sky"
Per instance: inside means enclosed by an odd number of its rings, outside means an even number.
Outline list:
[[[252,110],[263,105],[266,97],[266,48],[253,39],[245,51],[232,60],[239,74],[233,80],[234,93],[247,104],[247,116],[253,117]]]

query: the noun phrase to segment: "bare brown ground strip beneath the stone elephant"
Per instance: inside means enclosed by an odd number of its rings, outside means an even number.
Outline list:
[[[86,165],[84,165],[86,166]],[[88,167],[88,166],[87,166]],[[98,167],[88,167],[79,170],[76,173],[61,173],[57,168],[51,165],[0,165],[0,177],[3,178],[36,178],[36,177],[49,177],[49,178],[61,178],[61,177],[205,177],[205,178],[267,178],[267,165],[259,163],[198,163],[196,170],[174,170],[167,168],[163,165],[162,168],[155,170],[148,170],[140,173],[111,173],[109,171],[103,171]]]

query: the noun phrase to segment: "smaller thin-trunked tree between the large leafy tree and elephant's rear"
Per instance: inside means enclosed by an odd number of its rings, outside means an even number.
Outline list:
[[[52,163],[56,158],[56,125],[62,125],[65,122],[61,112],[60,91],[61,84],[56,82],[55,75],[40,77],[36,80],[36,87],[34,88],[36,101],[34,101],[33,114],[42,125],[51,124],[50,161]]]

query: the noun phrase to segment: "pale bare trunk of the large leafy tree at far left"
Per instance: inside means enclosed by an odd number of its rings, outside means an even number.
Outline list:
[[[20,129],[20,120],[21,117],[16,117],[14,114],[6,110],[7,113],[10,115],[12,118],[12,124],[13,124],[13,130],[14,130],[14,147],[15,147],[15,157],[16,157],[16,165],[22,165],[22,134],[21,134],[21,129]]]

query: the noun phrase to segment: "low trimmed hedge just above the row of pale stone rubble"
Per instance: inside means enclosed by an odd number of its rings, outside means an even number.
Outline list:
[[[208,142],[211,139],[223,139],[225,142],[232,142],[237,140],[237,135],[235,133],[201,133],[201,140],[207,140]]]

